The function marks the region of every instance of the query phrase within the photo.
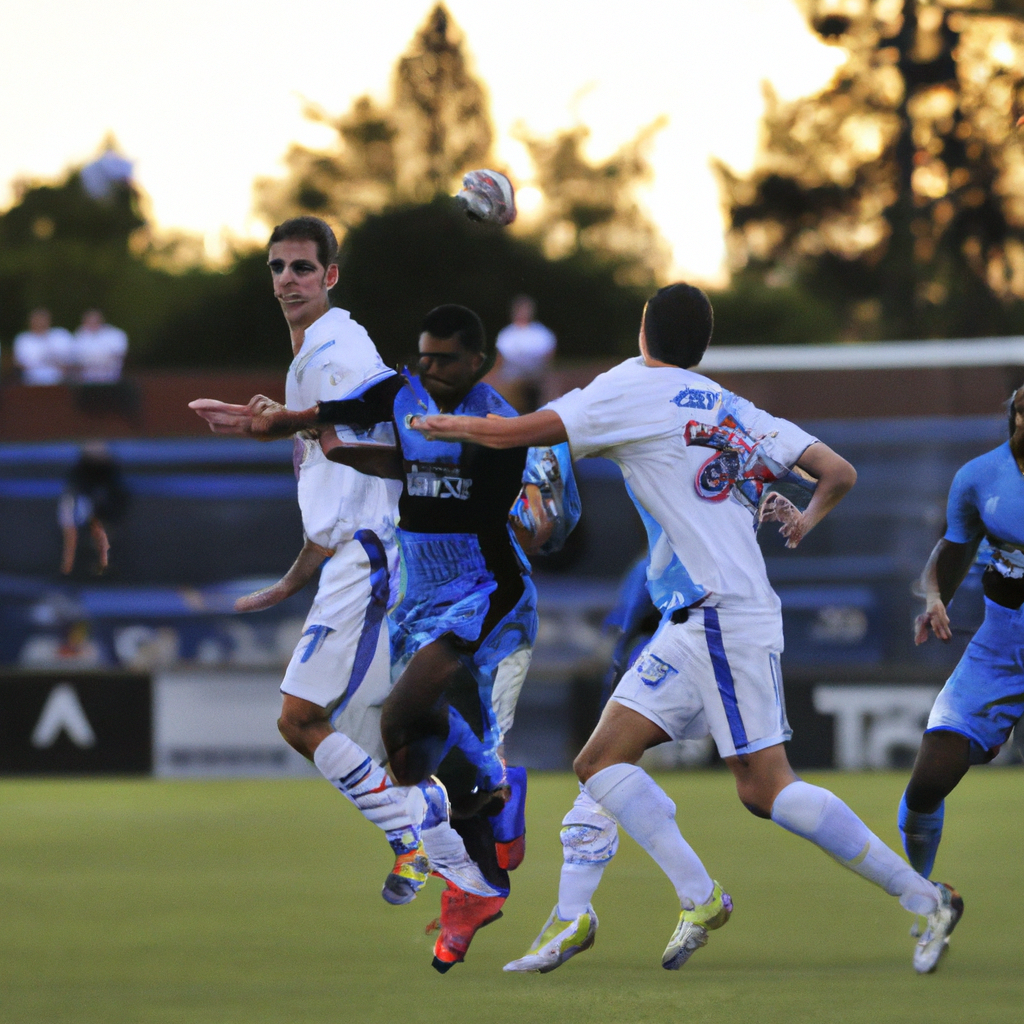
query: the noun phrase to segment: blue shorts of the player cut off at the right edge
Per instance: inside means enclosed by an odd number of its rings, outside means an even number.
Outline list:
[[[983,751],[1001,746],[1024,716],[1024,607],[985,598],[985,621],[935,698],[927,732],[958,732]]]

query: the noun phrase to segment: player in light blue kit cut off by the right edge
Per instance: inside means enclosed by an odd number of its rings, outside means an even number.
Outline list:
[[[1024,715],[1024,387],[1010,399],[1009,428],[1009,440],[953,477],[945,536],[924,571],[927,605],[914,642],[929,631],[949,640],[946,606],[985,542],[985,618],[935,700],[900,801],[903,847],[926,878],[942,839],[945,798],[972,764],[995,757]],[[926,931],[925,939],[934,970],[948,933]]]

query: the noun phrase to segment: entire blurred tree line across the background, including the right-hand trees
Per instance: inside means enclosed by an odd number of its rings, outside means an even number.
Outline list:
[[[766,89],[754,170],[717,166],[731,284],[712,295],[716,342],[1024,333],[1024,0],[799,0],[844,65],[820,93]],[[494,335],[525,292],[568,357],[634,352],[644,298],[670,254],[639,201],[662,122],[603,161],[577,125],[520,131],[541,204],[513,229],[474,224],[449,197],[495,166],[483,85],[442,5],[397,61],[385,101],[309,105],[323,150],[294,145],[256,182],[268,225],[300,213],[342,240],[334,300],[386,358],[413,349],[439,302]],[[498,169],[502,169],[500,166]],[[0,215],[0,340],[31,308],[67,327],[99,306],[136,366],[284,366],[262,249],[213,268],[185,237],[154,237],[130,182],[95,198],[76,171],[23,183]]]

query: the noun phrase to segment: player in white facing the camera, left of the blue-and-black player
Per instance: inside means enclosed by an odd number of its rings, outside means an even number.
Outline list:
[[[286,385],[290,409],[354,397],[387,377],[397,380],[367,332],[346,310],[331,306],[337,253],[334,232],[316,217],[287,220],[270,236],[273,293],[295,356]],[[189,406],[208,418],[222,403],[199,399]],[[217,433],[246,432],[211,426]],[[323,563],[316,597],[281,684],[278,724],[295,750],[384,829],[396,860],[382,895],[389,903],[407,903],[428,877],[421,824],[436,824],[444,799],[430,783],[395,786],[381,767],[381,705],[391,688],[385,615],[396,589],[394,520],[401,484],[332,464],[314,434],[295,443],[305,544],[280,583],[241,599],[237,608],[269,607],[301,589]]]

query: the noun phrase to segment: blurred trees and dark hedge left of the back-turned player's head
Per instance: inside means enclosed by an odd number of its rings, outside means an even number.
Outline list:
[[[520,218],[514,231],[470,222],[451,195],[467,170],[495,165],[494,131],[484,87],[442,5],[398,60],[386,103],[362,96],[338,117],[306,114],[332,129],[333,144],[293,146],[285,176],[256,183],[257,211],[268,225],[312,213],[335,227],[341,280],[332,298],[385,358],[411,354],[423,314],[441,302],[472,306],[497,334],[522,292],[562,355],[635,350],[643,301],[667,259],[637,200],[657,126],[598,162],[585,156],[581,127],[526,139],[540,217]],[[81,172],[22,186],[0,215],[0,338],[9,342],[33,306],[74,327],[97,305],[128,332],[136,366],[287,365],[265,251],[204,266],[187,239],[158,245],[143,206],[130,183],[91,198]]]

